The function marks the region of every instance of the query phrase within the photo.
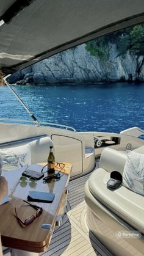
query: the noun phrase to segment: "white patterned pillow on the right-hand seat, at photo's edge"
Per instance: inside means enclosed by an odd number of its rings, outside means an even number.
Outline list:
[[[132,191],[144,195],[144,154],[127,151],[122,184]]]

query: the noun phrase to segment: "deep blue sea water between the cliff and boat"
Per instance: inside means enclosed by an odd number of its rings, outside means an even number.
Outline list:
[[[13,86],[39,121],[77,131],[120,132],[144,128],[144,84]],[[0,87],[0,117],[31,120],[8,87]]]

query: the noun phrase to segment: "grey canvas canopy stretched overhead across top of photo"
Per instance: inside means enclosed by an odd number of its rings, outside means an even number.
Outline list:
[[[0,17],[0,69],[7,74],[143,22],[144,1],[1,0]]]

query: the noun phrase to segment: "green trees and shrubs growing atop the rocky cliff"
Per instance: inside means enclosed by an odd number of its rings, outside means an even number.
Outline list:
[[[86,43],[87,51],[99,60],[104,61],[109,58],[109,45],[115,43],[120,56],[126,56],[127,51],[134,56],[144,55],[144,24],[128,27],[118,32],[100,37]]]

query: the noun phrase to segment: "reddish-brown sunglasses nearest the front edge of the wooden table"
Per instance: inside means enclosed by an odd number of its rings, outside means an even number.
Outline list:
[[[29,216],[27,219],[25,219],[24,222],[23,222],[23,221],[21,221],[21,219],[18,217],[18,214],[16,213],[16,208],[15,208],[15,217],[16,217],[16,219],[17,219],[21,224],[27,226],[27,225],[31,224],[36,218],[38,218],[38,217],[41,215],[41,213],[43,212],[43,208],[37,207],[37,205],[32,205],[31,203],[29,203],[29,202],[27,202],[27,201],[25,201],[25,200],[23,200],[23,202],[28,203],[32,208],[34,208],[35,210],[37,210],[35,216],[34,216],[34,215],[31,215],[31,216]]]

